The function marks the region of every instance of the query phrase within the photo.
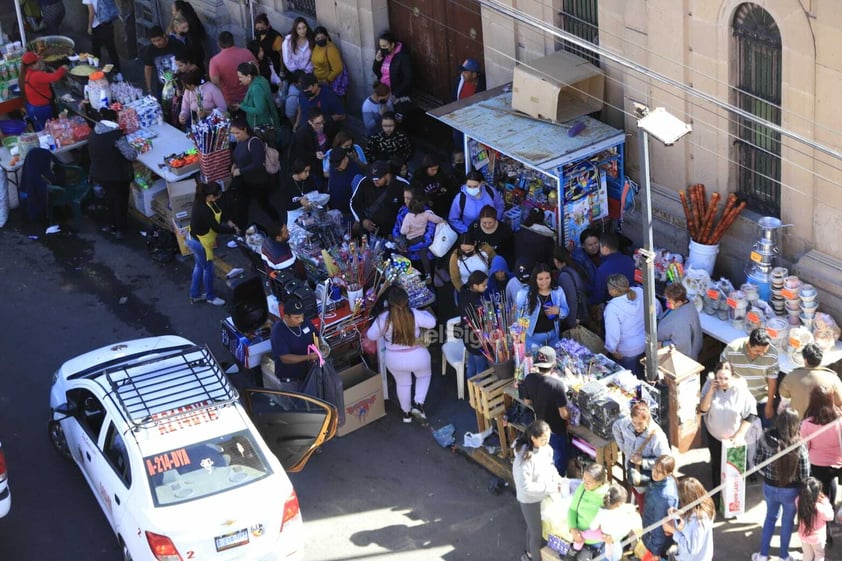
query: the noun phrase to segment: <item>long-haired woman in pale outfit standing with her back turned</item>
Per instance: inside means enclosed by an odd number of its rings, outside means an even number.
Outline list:
[[[368,328],[366,337],[386,342],[386,368],[395,378],[398,402],[403,411],[403,422],[411,423],[412,415],[427,418],[424,400],[430,389],[430,352],[418,343],[421,328],[432,329],[436,317],[409,307],[409,296],[399,286],[389,288],[388,308],[378,314]],[[415,399],[412,396],[412,375],[415,374]]]

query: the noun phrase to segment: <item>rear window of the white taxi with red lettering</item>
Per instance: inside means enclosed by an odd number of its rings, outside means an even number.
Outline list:
[[[143,459],[155,506],[170,506],[242,487],[272,469],[247,431]]]

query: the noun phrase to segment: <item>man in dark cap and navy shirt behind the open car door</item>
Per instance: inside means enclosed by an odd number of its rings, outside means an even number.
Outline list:
[[[275,377],[282,391],[300,391],[310,363],[319,359],[316,353],[307,350],[316,334],[313,323],[304,320],[304,303],[289,298],[284,303],[281,321],[272,326],[271,335]]]

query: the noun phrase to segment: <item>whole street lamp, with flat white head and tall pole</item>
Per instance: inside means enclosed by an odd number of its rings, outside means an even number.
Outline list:
[[[646,379],[658,379],[658,326],[655,308],[655,246],[652,241],[652,184],[649,175],[649,136],[660,140],[665,146],[689,133],[690,125],[671,115],[663,107],[652,111],[646,106],[635,104],[638,115],[637,129],[640,139],[640,179],[643,185],[643,248],[640,254],[646,261],[643,269],[643,305],[646,308]]]

